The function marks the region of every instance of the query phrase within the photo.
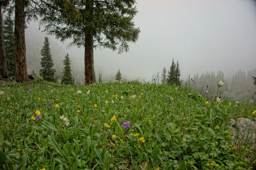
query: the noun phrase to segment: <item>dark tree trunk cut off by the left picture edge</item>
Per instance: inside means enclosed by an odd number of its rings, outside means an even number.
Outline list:
[[[2,15],[2,5],[0,5],[0,76],[2,78],[8,78],[7,62],[4,51],[4,40],[3,40],[3,15]]]

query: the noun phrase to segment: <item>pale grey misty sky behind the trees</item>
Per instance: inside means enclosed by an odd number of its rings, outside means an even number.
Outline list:
[[[100,71],[103,80],[110,80],[120,68],[122,78],[150,81],[156,72],[161,75],[164,66],[169,69],[172,58],[179,60],[182,79],[189,73],[193,77],[219,70],[227,79],[240,69],[256,67],[255,0],[137,0],[136,6],[134,22],[141,31],[137,43],[122,54],[94,50],[96,77]],[[26,37],[34,36],[34,31],[44,34],[31,23]],[[67,43],[60,44],[65,48]],[[84,49],[72,47],[66,52],[73,69],[82,67],[84,76]]]

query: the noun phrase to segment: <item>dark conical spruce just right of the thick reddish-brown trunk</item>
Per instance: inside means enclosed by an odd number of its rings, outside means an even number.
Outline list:
[[[41,77],[44,78],[46,81],[56,81],[55,80],[55,72],[56,70],[52,67],[54,66],[52,55],[51,55],[51,49],[50,49],[50,43],[48,37],[44,37],[44,46],[41,50],[41,69],[39,71],[39,74]]]

